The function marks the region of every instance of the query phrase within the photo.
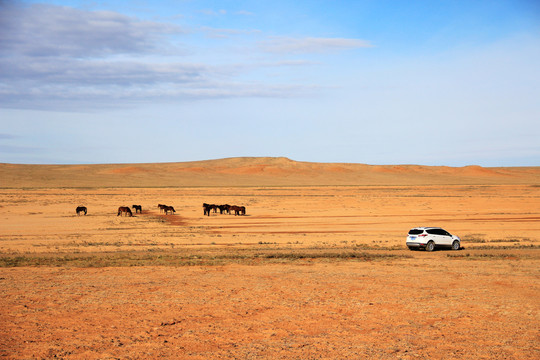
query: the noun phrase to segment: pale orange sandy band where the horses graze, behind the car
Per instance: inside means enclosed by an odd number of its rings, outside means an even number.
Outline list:
[[[0,190],[1,253],[197,245],[403,247],[414,226],[441,226],[466,247],[540,242],[540,187],[370,186]],[[246,216],[203,215],[236,204]],[[116,216],[140,204],[143,214]],[[157,204],[172,205],[174,215]],[[88,215],[77,216],[84,205]]]

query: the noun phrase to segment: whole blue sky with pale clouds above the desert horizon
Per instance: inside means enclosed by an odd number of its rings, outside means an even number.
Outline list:
[[[0,0],[0,162],[540,166],[537,0]]]

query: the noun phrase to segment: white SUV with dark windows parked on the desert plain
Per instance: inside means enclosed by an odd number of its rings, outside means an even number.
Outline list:
[[[407,246],[411,250],[424,248],[433,251],[436,247],[459,250],[461,239],[448,231],[437,227],[418,227],[409,231]]]

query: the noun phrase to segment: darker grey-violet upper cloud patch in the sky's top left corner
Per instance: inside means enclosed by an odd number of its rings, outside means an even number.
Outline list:
[[[140,21],[109,11],[35,4],[5,6],[0,19],[0,56],[88,58],[151,53],[161,38],[182,33],[176,25]]]

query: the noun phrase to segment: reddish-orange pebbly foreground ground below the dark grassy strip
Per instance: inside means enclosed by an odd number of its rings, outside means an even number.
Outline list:
[[[0,272],[0,356],[534,359],[538,254]]]

